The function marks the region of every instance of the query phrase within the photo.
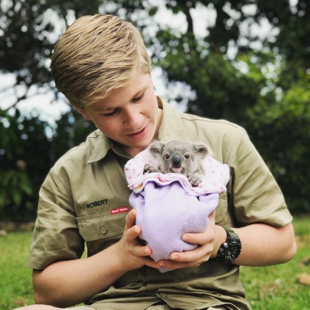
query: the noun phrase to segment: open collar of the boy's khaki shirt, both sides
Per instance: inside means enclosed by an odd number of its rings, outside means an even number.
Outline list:
[[[158,140],[168,142],[170,140],[191,141],[181,121],[181,116],[168,102],[157,96],[158,107],[163,109],[162,120],[158,131]],[[106,137],[102,132],[97,138],[95,147],[87,163],[93,163],[107,156],[109,150],[122,156],[131,158],[129,154],[123,152],[117,143]]]

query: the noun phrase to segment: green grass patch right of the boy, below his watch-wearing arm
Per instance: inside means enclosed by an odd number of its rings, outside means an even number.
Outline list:
[[[267,267],[240,268],[246,298],[253,310],[309,310],[310,285],[299,283],[297,275],[310,276],[310,216],[294,217],[297,254],[289,262]]]

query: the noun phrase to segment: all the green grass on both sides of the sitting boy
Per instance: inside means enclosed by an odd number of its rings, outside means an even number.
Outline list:
[[[310,285],[297,280],[298,274],[310,274],[310,216],[295,217],[293,224],[298,251],[291,261],[268,267],[242,266],[240,269],[246,298],[253,310],[310,309]],[[31,270],[25,265],[30,242],[30,231],[0,237],[1,310],[33,303]]]

